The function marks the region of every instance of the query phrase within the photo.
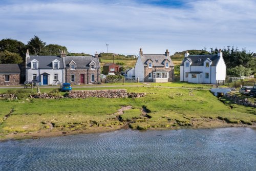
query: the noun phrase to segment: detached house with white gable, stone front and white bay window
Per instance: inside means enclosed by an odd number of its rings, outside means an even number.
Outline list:
[[[140,82],[168,82],[174,79],[174,63],[169,52],[165,54],[143,54],[139,51],[135,65],[135,77]]]

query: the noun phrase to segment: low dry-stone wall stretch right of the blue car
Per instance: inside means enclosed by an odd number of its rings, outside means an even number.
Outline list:
[[[75,90],[70,91],[67,98],[124,98],[127,96],[127,91],[125,89],[117,90]]]

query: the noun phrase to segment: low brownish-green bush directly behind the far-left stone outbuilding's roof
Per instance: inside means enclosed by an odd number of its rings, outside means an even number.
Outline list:
[[[17,53],[12,53],[7,50],[0,52],[0,63],[22,63],[22,57]]]

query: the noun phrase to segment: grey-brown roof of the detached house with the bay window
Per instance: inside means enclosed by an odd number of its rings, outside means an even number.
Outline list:
[[[164,65],[164,60],[168,59],[170,61],[169,66],[170,67],[174,67],[174,63],[172,61],[172,59],[170,59],[169,56],[166,55],[162,55],[162,54],[143,54],[143,56],[141,56],[141,60],[144,66],[147,66],[147,61],[148,60],[152,60],[153,61],[153,67],[165,67]]]

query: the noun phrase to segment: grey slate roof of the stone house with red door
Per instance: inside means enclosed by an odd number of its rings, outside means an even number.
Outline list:
[[[96,64],[95,68],[100,68],[99,58],[94,56],[66,56],[65,57],[65,67],[69,67],[71,61],[76,63],[76,69],[88,69],[90,68],[89,64],[94,61]]]

